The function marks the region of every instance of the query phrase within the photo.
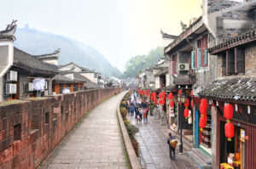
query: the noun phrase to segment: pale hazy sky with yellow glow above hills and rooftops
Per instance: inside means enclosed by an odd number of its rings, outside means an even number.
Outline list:
[[[181,33],[201,15],[201,0],[8,0],[1,3],[0,29],[18,20],[38,31],[70,37],[96,48],[119,70],[138,54],[163,46],[160,29]]]

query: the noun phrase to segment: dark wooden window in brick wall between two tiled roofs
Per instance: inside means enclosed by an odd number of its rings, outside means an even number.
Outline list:
[[[244,73],[245,71],[245,50],[244,48],[231,48],[225,54],[225,74],[232,75]]]

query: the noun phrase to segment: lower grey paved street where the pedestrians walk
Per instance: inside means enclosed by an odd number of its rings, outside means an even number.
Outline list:
[[[166,143],[170,130],[167,126],[160,126],[160,120],[154,120],[153,116],[148,115],[148,122],[136,124],[134,116],[127,115],[131,123],[139,127],[136,135],[137,142],[140,144],[143,157],[142,166],[147,169],[197,169],[195,163],[186,155],[178,154],[176,149],[176,160],[171,161],[169,147]]]

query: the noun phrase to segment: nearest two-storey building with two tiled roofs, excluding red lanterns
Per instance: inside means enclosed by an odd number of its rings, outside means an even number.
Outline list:
[[[256,166],[256,30],[248,31],[209,48],[218,55],[218,78],[199,93],[210,100],[217,119],[215,165],[232,163],[237,168]],[[225,137],[224,104],[234,107],[231,141]],[[233,157],[234,156],[234,157]]]

